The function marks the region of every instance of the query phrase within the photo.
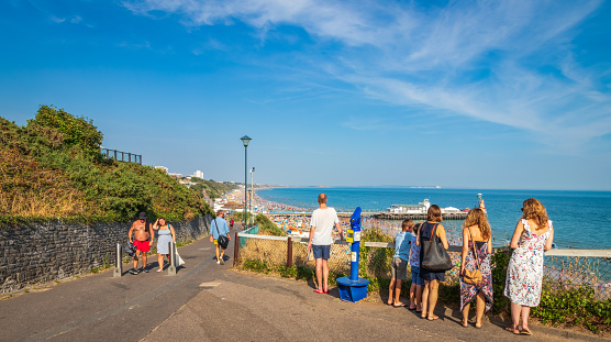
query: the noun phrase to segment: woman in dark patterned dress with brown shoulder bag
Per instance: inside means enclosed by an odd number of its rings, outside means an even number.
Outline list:
[[[490,271],[492,254],[492,233],[486,213],[481,209],[469,211],[463,223],[463,262],[460,263],[460,326],[467,328],[471,301],[477,298],[475,328],[481,328],[481,318],[492,308],[492,272]],[[479,269],[481,283],[465,282],[467,271]]]

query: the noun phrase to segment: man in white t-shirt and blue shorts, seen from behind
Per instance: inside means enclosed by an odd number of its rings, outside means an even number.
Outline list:
[[[337,228],[340,238],[343,239],[342,224],[337,219],[335,209],[326,207],[326,195],[319,195],[320,208],[312,213],[310,222],[310,240],[308,251],[313,251],[316,260],[316,294],[329,294],[329,257],[331,256],[331,244],[333,243],[333,225]],[[324,287],[323,287],[324,279]]]

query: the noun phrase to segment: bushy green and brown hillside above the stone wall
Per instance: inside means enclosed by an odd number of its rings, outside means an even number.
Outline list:
[[[41,106],[19,126],[0,118],[0,221],[190,220],[211,212],[198,192],[164,172],[104,159],[92,120]]]

